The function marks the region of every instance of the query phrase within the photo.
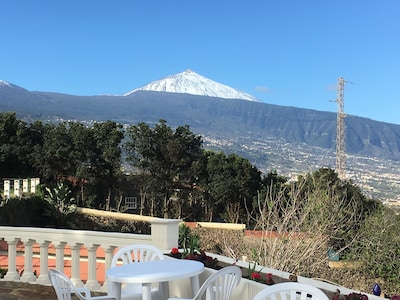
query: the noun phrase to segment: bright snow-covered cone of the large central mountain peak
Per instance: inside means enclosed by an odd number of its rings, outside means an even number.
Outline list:
[[[170,93],[185,93],[225,99],[243,99],[260,102],[252,95],[235,90],[227,85],[212,81],[204,76],[186,70],[182,73],[167,76],[163,79],[150,82],[149,84],[134,89],[124,96],[129,96],[137,91],[156,91]]]

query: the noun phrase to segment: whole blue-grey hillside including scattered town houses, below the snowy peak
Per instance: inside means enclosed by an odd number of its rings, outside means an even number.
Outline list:
[[[122,124],[189,125],[205,146],[237,153],[261,170],[296,176],[335,166],[336,114],[267,103],[137,91],[129,96],[74,96],[0,85],[0,111],[26,121],[113,120]],[[349,178],[382,200],[400,186],[400,126],[347,116]]]

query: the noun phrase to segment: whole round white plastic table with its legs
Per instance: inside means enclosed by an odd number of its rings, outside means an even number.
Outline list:
[[[121,300],[123,283],[140,283],[143,288],[143,300],[151,300],[152,283],[189,277],[192,293],[195,295],[199,290],[198,275],[203,270],[203,263],[188,259],[153,260],[116,266],[106,272],[108,295]]]

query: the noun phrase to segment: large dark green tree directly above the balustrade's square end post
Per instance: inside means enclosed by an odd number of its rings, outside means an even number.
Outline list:
[[[174,130],[165,120],[151,128],[145,123],[127,129],[125,149],[128,161],[146,178],[146,185],[165,218],[170,215],[171,195],[176,189],[186,189],[193,183],[192,164],[201,154],[202,140],[189,126]]]

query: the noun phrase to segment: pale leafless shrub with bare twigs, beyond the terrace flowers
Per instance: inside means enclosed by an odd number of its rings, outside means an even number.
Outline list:
[[[253,219],[262,236],[258,242],[254,239],[252,260],[306,276],[326,266],[330,243],[359,220],[358,204],[334,188],[305,190],[293,183],[279,191],[271,188],[264,199],[259,197],[259,211]],[[354,237],[348,239],[338,251],[353,241]]]

